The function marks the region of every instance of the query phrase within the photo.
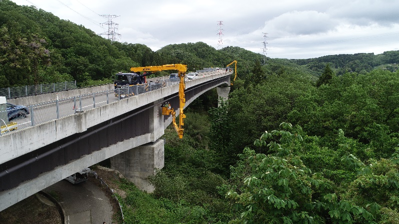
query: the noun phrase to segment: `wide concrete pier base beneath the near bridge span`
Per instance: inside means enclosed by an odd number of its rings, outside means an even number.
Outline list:
[[[111,157],[111,168],[120,171],[139,189],[153,192],[148,176],[164,167],[164,139],[158,139]]]

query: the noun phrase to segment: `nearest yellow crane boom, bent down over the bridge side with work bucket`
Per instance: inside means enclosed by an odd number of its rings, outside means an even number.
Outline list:
[[[176,111],[170,107],[169,103],[162,103],[162,114],[163,115],[170,115],[172,114],[173,119],[173,126],[179,138],[183,138],[183,119],[186,118],[186,115],[183,113],[183,107],[186,104],[186,98],[184,95],[184,77],[187,71],[186,64],[165,64],[160,66],[146,66],[146,67],[131,67],[130,71],[133,72],[140,72],[140,71],[163,71],[163,70],[177,70],[179,72],[180,77],[180,84],[179,84],[179,106],[180,106],[180,113],[179,113],[179,125],[176,123]]]

